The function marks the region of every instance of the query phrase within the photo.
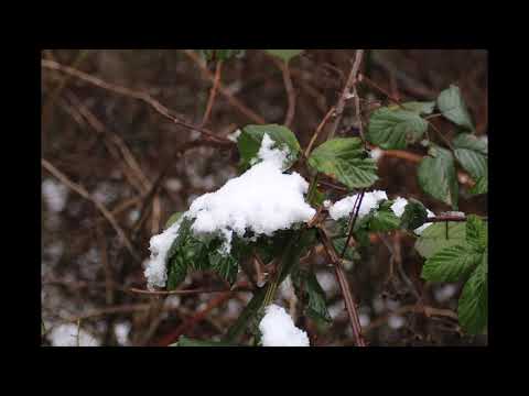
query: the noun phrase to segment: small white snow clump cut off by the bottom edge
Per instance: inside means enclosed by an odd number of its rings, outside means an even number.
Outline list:
[[[273,304],[266,308],[259,330],[262,346],[310,346],[306,332],[294,326],[282,307]]]

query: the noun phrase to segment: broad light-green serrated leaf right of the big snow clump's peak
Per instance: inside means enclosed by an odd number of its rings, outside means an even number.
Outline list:
[[[326,141],[311,153],[309,165],[349,189],[369,187],[378,179],[377,163],[368,157],[358,138]]]

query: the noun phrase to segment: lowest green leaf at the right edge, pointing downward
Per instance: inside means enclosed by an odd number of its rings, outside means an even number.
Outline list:
[[[469,334],[481,334],[488,320],[487,254],[466,282],[460,297],[458,319],[461,327]]]

